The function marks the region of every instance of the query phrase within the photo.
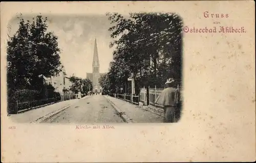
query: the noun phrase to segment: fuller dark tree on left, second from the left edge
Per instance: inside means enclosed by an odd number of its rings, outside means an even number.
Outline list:
[[[33,52],[34,65],[31,65],[31,84],[36,86],[42,76],[55,76],[61,71],[60,49],[58,48],[57,36],[47,32],[47,17],[41,15],[33,18],[31,24],[31,51]],[[40,84],[40,83],[39,83]],[[38,87],[38,86],[36,86]]]

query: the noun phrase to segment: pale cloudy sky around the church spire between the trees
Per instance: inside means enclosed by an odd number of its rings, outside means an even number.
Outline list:
[[[35,15],[23,15],[24,20],[32,20]],[[105,15],[42,15],[48,18],[48,31],[58,37],[61,49],[60,61],[68,76],[86,78],[92,72],[94,42],[97,39],[100,73],[108,72],[113,59],[113,48],[109,44],[113,39],[108,29],[112,26]],[[9,23],[11,34],[18,29],[18,19]]]

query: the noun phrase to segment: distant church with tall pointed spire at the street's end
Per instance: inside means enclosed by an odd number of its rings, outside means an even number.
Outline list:
[[[98,49],[97,49],[97,41],[95,38],[94,44],[94,54],[93,54],[93,73],[86,73],[86,78],[90,79],[93,84],[92,92],[102,92],[102,88],[99,85],[99,77],[104,75],[105,73],[99,72],[99,57],[98,57]]]

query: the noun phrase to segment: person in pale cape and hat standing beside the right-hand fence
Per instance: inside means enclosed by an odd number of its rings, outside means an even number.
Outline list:
[[[175,80],[169,78],[165,85],[166,88],[158,96],[155,103],[164,106],[165,122],[176,122],[175,111],[178,105],[178,90],[175,88]]]

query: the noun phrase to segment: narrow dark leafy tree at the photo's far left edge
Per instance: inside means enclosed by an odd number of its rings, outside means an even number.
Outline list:
[[[25,89],[28,87],[29,66],[31,52],[29,33],[30,24],[20,19],[19,28],[13,37],[10,37],[7,46],[7,80],[9,88]]]

